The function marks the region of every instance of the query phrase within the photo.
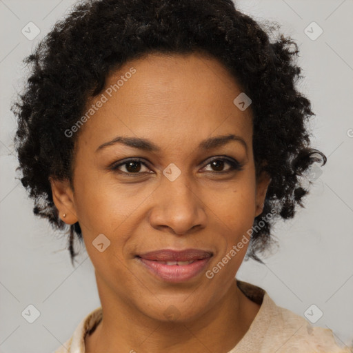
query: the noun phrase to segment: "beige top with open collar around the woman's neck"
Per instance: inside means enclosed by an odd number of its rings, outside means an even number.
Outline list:
[[[261,305],[249,330],[228,353],[352,353],[339,345],[332,330],[312,327],[303,317],[277,306],[262,288],[237,280],[239,289]],[[102,319],[101,307],[88,314],[72,337],[54,353],[84,353],[85,334],[93,332]]]

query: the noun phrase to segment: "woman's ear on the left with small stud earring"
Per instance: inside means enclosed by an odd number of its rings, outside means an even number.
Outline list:
[[[67,224],[74,224],[78,221],[74,205],[74,192],[70,181],[56,180],[49,178],[52,188],[52,199],[59,210],[60,218]],[[66,214],[63,217],[63,214]]]

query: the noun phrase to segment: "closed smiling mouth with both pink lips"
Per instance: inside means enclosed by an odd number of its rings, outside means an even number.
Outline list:
[[[179,283],[200,274],[213,256],[212,252],[198,249],[182,251],[158,250],[137,255],[150,273],[162,281]]]

